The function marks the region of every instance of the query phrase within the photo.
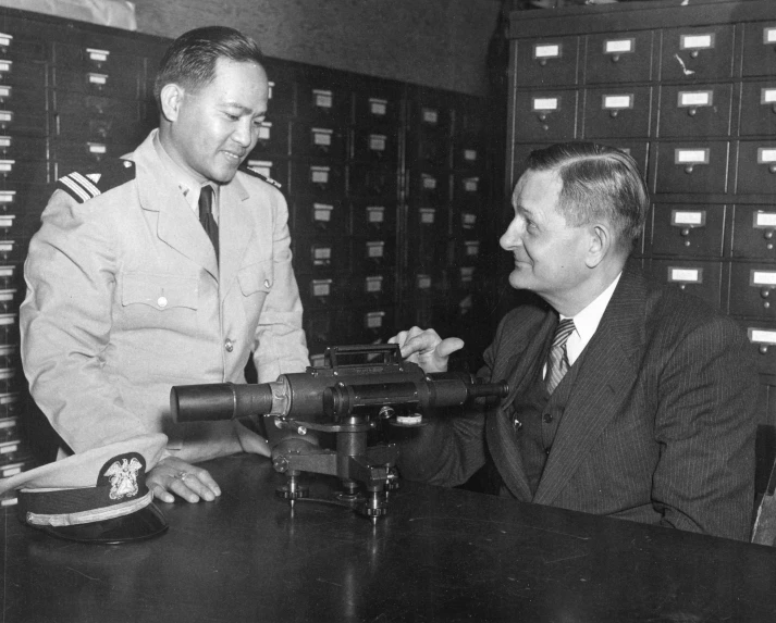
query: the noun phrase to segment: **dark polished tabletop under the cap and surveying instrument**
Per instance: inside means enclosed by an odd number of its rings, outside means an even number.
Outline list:
[[[170,529],[145,541],[60,540],[8,509],[2,622],[776,621],[776,548],[412,483],[377,525],[292,516],[268,460],[205,466],[221,498],[160,504]]]

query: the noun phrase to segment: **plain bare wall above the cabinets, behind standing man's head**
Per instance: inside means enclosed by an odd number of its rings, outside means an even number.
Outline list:
[[[141,33],[220,24],[266,54],[468,94],[486,89],[496,0],[134,0]]]

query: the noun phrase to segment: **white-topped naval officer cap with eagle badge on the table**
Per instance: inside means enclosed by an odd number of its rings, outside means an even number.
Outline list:
[[[16,489],[20,521],[61,538],[149,538],[168,527],[146,486],[165,444],[165,435],[153,434],[79,452],[1,479],[0,494]]]

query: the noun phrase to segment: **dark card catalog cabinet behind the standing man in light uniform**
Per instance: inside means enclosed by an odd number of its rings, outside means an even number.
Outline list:
[[[0,477],[35,463],[42,434],[23,416],[19,359],[29,238],[58,177],[132,151],[158,125],[170,42],[0,8]],[[247,162],[288,202],[313,364],[327,346],[385,341],[408,323],[443,331],[488,283],[479,100],[278,59],[266,68],[269,114]]]

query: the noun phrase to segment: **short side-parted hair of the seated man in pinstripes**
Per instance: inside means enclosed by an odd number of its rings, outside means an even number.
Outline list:
[[[530,171],[555,171],[563,187],[558,210],[579,227],[605,220],[627,251],[641,235],[650,194],[636,161],[619,149],[594,142],[562,142],[531,152]]]

